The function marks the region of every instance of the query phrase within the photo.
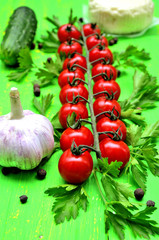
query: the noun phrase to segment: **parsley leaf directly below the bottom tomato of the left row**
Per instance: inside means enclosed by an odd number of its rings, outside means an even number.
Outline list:
[[[49,188],[45,193],[55,197],[52,211],[56,224],[69,221],[71,218],[76,219],[80,209],[85,212],[87,210],[87,194],[82,185],[60,185]]]

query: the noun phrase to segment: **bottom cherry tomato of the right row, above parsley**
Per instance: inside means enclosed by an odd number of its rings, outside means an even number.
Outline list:
[[[108,158],[108,163],[118,161],[123,162],[120,168],[123,168],[129,161],[130,150],[125,142],[114,141],[109,138],[103,139],[99,143],[101,155],[103,158]]]

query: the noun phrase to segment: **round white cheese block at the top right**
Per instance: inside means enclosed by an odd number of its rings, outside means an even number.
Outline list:
[[[89,0],[90,21],[111,34],[144,30],[152,22],[153,10],[152,0]]]

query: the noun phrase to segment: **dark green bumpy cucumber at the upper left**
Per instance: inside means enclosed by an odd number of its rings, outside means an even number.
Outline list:
[[[19,51],[31,46],[37,29],[37,19],[32,9],[19,7],[10,17],[0,47],[0,58],[6,65],[17,65]]]

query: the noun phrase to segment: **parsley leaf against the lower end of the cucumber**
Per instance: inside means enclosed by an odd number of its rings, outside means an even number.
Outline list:
[[[7,77],[9,81],[19,82],[22,80],[32,69],[33,60],[30,55],[29,48],[21,49],[18,57],[19,67],[16,72],[11,72]]]

